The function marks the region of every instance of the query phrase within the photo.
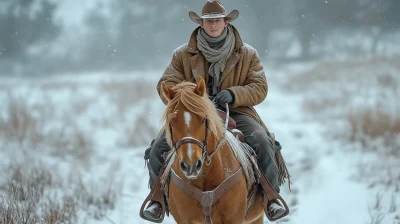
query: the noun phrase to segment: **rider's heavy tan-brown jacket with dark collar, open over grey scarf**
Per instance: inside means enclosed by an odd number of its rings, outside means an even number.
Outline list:
[[[167,99],[161,93],[161,82],[165,81],[172,87],[182,81],[196,82],[199,76],[208,82],[208,62],[197,48],[196,35],[200,28],[199,26],[193,31],[188,44],[174,51],[171,63],[157,84],[158,94],[165,104]],[[236,39],[235,50],[222,73],[220,89],[229,89],[234,93],[235,101],[230,105],[231,110],[253,117],[266,128],[253,108],[264,101],[268,92],[263,66],[257,51],[242,42],[235,27],[233,32]]]

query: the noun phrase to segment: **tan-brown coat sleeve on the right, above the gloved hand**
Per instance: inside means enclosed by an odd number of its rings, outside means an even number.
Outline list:
[[[260,57],[254,49],[251,56],[249,71],[244,86],[232,86],[228,88],[233,93],[234,102],[232,108],[239,106],[255,106],[264,101],[268,93],[267,78]]]

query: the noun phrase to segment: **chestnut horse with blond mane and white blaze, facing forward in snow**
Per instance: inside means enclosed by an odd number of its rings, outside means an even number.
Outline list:
[[[262,224],[261,195],[250,207],[247,204],[254,175],[241,148],[244,144],[225,132],[203,78],[197,84],[161,85],[168,99],[165,132],[172,150],[166,175],[170,175],[168,206],[173,218],[179,224]]]

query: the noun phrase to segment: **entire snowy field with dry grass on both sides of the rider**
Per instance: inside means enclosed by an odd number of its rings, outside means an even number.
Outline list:
[[[292,176],[277,223],[400,223],[399,62],[264,64],[256,109]],[[161,74],[1,79],[0,223],[148,223],[143,155],[161,124]]]

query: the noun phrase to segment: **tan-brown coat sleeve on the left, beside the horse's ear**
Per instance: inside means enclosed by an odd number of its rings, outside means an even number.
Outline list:
[[[171,62],[169,63],[164,71],[164,74],[161,76],[160,80],[157,83],[158,95],[165,105],[167,105],[168,99],[165,98],[164,94],[162,93],[161,83],[164,81],[169,87],[173,87],[184,80],[185,77],[183,75],[182,57],[179,54],[179,49],[177,49],[174,51]]]

